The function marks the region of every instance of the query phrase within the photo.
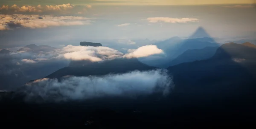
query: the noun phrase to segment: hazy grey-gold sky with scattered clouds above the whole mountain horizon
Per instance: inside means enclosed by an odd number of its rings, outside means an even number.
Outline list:
[[[136,39],[253,38],[253,0],[1,0],[0,48],[79,45],[81,41],[139,47]],[[124,39],[119,40],[119,39]]]

